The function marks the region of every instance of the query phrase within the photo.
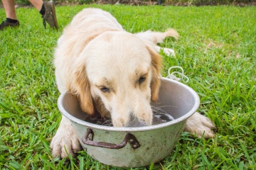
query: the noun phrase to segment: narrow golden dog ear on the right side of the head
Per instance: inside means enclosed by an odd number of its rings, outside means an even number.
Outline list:
[[[151,55],[151,69],[152,69],[152,79],[151,79],[151,101],[157,101],[159,96],[159,88],[161,84],[161,67],[162,67],[162,59],[161,55],[159,55],[155,50],[151,49],[151,47],[146,46],[147,50],[149,50],[149,54]]]

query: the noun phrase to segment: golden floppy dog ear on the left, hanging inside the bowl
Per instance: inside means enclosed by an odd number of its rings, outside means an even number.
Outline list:
[[[82,111],[88,115],[93,115],[95,113],[95,107],[92,101],[90,82],[87,78],[85,65],[75,67],[73,74],[69,75],[68,79],[70,79],[68,89],[78,97]]]

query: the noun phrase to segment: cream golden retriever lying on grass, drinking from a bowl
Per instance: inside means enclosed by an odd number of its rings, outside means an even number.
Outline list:
[[[77,96],[88,115],[110,116],[114,127],[152,123],[151,101],[157,101],[161,77],[160,47],[165,33],[127,33],[108,12],[85,8],[65,28],[55,49],[55,77],[60,93]],[[164,48],[166,55],[174,50]],[[195,113],[186,123],[188,132],[213,137],[213,124]],[[80,147],[70,120],[62,117],[50,147],[54,157],[75,155]],[[66,151],[66,152],[65,152]]]

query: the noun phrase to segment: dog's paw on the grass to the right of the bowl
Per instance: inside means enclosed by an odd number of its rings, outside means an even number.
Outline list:
[[[208,139],[214,137],[213,129],[215,129],[215,126],[210,119],[196,112],[188,118],[184,131]]]

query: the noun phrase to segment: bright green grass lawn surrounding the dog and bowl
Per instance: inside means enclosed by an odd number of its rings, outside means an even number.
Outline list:
[[[95,5],[93,5],[95,6]],[[82,151],[70,160],[53,158],[50,140],[60,113],[53,50],[63,28],[87,6],[58,6],[60,30],[43,28],[35,8],[18,8],[19,28],[0,32],[0,169],[116,169]],[[157,164],[138,169],[256,169],[256,8],[234,6],[95,6],[110,11],[124,29],[164,31],[187,83],[201,97],[199,112],[216,125],[201,140],[183,132],[176,148]],[[4,9],[0,16],[5,18]]]

